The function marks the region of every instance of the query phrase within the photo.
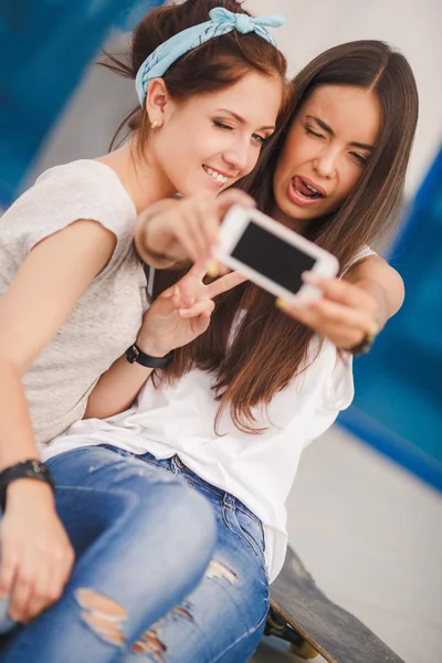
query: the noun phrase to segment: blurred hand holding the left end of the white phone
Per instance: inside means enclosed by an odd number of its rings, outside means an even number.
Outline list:
[[[150,206],[138,217],[135,231],[140,257],[154,266],[160,266],[155,259],[168,264],[189,260],[207,263],[213,259],[221,219],[234,204],[255,206],[239,189],[230,189],[217,198],[194,196]]]

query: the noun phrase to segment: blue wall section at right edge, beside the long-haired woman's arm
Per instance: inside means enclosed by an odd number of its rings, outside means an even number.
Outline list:
[[[442,490],[442,150],[408,211],[390,262],[406,302],[369,356],[339,422]]]

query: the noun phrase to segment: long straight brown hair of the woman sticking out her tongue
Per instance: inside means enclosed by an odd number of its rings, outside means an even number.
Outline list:
[[[293,81],[291,118],[263,151],[254,175],[241,185],[266,213],[275,206],[273,178],[291,124],[320,85],[372,90],[382,109],[377,145],[358,185],[340,209],[313,221],[305,233],[334,253],[344,271],[365,244],[396,220],[418,118],[418,93],[407,60],[382,42],[350,42],[316,57]],[[157,276],[161,291],[167,276]],[[240,320],[241,311],[245,313]],[[233,324],[238,330],[229,343]],[[256,432],[253,409],[267,406],[305,368],[313,336],[278,312],[273,296],[246,283],[218,297],[208,332],[176,352],[162,379],[177,379],[193,367],[210,371],[221,410],[229,403],[236,427]]]

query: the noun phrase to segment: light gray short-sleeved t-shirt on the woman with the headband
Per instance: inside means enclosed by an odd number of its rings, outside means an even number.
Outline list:
[[[82,419],[99,376],[134,343],[147,306],[135,207],[117,175],[93,160],[46,170],[0,219],[0,297],[32,248],[78,219],[98,221],[117,245],[23,378],[40,448]]]

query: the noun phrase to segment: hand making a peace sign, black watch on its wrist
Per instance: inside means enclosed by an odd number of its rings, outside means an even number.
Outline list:
[[[137,346],[164,357],[206,332],[214,309],[213,297],[246,281],[238,272],[204,285],[206,265],[197,263],[175,286],[165,291],[145,313]]]

